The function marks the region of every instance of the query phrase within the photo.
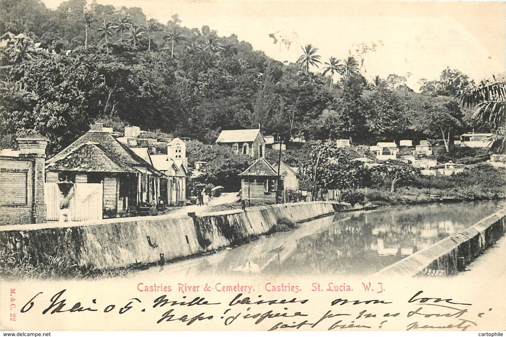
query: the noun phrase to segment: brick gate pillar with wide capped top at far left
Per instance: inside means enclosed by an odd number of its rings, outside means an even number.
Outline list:
[[[44,199],[44,181],[46,164],[46,147],[49,139],[38,135],[26,135],[16,138],[20,158],[33,160],[33,201],[31,204],[32,223],[46,222],[46,201]]]

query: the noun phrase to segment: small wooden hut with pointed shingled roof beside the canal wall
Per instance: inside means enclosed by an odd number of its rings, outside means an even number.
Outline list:
[[[258,158],[241,176],[242,200],[276,202],[277,171],[264,158]]]

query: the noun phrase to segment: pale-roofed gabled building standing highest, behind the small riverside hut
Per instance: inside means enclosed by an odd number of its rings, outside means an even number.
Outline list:
[[[232,148],[236,154],[260,158],[265,155],[265,139],[260,129],[223,130],[216,140],[217,144]]]

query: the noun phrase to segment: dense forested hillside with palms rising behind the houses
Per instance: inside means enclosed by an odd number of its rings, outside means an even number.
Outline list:
[[[259,124],[281,139],[361,143],[483,129],[452,98],[470,84],[458,70],[442,69],[414,93],[395,74],[367,82],[353,58],[325,62],[305,46],[299,60],[281,63],[235,35],[184,27],[177,15],[164,24],[139,8],[86,0],[56,10],[1,0],[0,11],[0,147],[35,131],[57,151],[96,120],[117,132],[135,124],[204,143],[222,129]],[[313,73],[314,65],[324,71]]]

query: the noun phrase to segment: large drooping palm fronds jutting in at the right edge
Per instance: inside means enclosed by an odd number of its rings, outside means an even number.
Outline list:
[[[463,107],[475,107],[473,118],[496,130],[506,123],[506,82],[481,82],[458,96]]]

